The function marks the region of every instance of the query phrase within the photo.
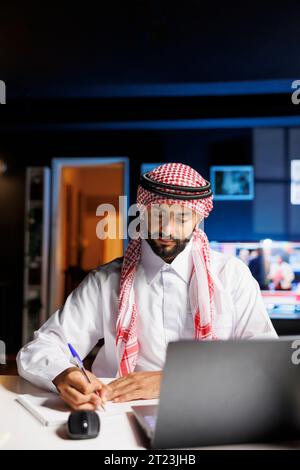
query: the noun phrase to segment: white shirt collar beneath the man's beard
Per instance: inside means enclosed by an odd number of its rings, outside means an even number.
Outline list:
[[[149,243],[143,239],[141,246],[141,263],[148,283],[150,284],[160,271],[172,270],[188,284],[193,268],[191,249],[192,239],[188,242],[185,249],[169,264],[155,254]]]

